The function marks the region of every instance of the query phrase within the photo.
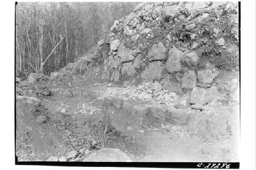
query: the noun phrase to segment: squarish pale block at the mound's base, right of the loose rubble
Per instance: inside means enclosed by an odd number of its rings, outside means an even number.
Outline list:
[[[204,105],[205,94],[206,94],[205,89],[195,87],[190,93],[190,103]]]

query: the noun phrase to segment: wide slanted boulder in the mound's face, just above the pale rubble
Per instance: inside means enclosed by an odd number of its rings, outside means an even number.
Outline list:
[[[161,79],[163,66],[160,61],[151,62],[142,72],[141,78],[143,81],[151,81]]]

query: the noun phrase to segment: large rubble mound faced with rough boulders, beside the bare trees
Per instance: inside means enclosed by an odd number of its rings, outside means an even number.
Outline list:
[[[105,79],[161,81],[183,75],[193,82],[183,87],[193,88],[198,72],[199,81],[208,83],[216,69],[238,70],[238,44],[238,4],[147,2],[116,20],[95,54],[105,52],[100,56]]]

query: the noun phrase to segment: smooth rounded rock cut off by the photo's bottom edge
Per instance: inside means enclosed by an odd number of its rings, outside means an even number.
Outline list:
[[[119,149],[103,148],[90,154],[83,160],[84,162],[131,162],[129,156]]]

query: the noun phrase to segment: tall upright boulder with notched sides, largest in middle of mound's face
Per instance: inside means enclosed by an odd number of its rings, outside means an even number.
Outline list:
[[[183,52],[178,50],[176,47],[169,50],[168,60],[165,64],[165,69],[169,74],[181,70],[180,60],[182,59],[182,56]]]

